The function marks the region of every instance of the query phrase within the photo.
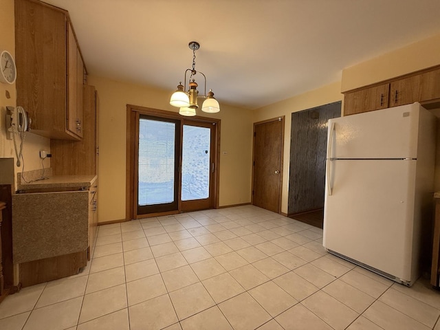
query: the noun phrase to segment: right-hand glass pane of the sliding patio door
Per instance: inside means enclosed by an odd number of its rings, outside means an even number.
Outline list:
[[[181,200],[192,201],[210,197],[210,140],[206,127],[184,125]]]

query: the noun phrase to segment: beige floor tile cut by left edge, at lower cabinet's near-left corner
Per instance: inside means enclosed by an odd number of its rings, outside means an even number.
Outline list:
[[[46,283],[25,287],[17,294],[7,296],[0,304],[0,319],[32,311],[45,286]]]

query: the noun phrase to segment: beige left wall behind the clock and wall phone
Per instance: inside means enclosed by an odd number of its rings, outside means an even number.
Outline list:
[[[0,5],[0,50],[8,50],[15,58],[14,0],[0,0]],[[10,98],[6,96],[7,93],[10,94]],[[0,158],[15,158],[14,144],[12,140],[6,139],[5,107],[15,106],[16,97],[17,91],[15,84],[9,85],[0,83]],[[17,142],[19,143],[19,140]],[[25,144],[23,146],[25,170],[41,168],[39,151],[42,149],[50,151],[50,140],[39,135],[26,133]],[[45,159],[45,167],[49,166],[50,159]],[[22,168],[14,167],[16,175],[17,172],[22,171]]]

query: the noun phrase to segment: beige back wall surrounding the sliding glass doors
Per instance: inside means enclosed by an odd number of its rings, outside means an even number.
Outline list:
[[[125,219],[126,104],[178,111],[168,103],[174,87],[164,91],[97,76],[89,84],[100,100],[99,221]],[[219,206],[250,203],[252,112],[219,102],[219,113],[201,114],[221,119]]]

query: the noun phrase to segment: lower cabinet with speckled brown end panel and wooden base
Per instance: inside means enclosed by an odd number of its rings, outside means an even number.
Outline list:
[[[95,182],[76,191],[12,195],[12,255],[22,287],[78,274],[87,265],[97,234]]]

